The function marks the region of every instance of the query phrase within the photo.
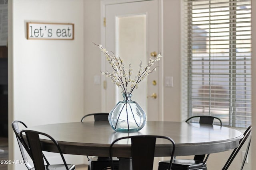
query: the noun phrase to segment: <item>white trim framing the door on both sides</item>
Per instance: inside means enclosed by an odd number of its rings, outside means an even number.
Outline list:
[[[141,2],[147,0],[123,0],[122,2],[118,0],[101,0],[101,18],[100,18],[100,31],[101,31],[101,45],[106,47],[106,27],[104,26],[104,18],[106,17],[106,6],[111,4],[123,4],[128,2]],[[160,47],[161,55],[164,56],[164,36],[163,36],[163,0],[158,0],[158,47]],[[164,57],[159,61],[158,76],[159,76],[159,111],[158,120],[164,121]],[[101,70],[106,70],[106,59],[101,53]],[[106,91],[104,89],[106,77],[101,78],[101,111],[106,111]],[[113,106],[114,107],[114,106]]]

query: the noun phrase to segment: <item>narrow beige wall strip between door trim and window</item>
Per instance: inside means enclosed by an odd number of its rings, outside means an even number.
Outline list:
[[[181,0],[163,0],[164,77],[173,76],[173,87],[164,87],[164,121],[181,121]],[[174,24],[175,23],[175,24]]]

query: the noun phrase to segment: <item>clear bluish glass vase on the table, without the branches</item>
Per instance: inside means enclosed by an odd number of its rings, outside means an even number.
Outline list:
[[[123,94],[124,100],[116,104],[108,115],[111,127],[118,132],[138,132],[146,124],[146,114],[131,100],[132,94]]]

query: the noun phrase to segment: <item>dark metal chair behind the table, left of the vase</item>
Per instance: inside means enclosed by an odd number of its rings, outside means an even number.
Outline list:
[[[94,116],[94,121],[108,121],[109,113],[91,113],[84,115],[81,119],[81,122],[88,116]],[[109,157],[102,156],[91,156],[88,158],[88,170],[106,170],[111,168],[111,162]],[[114,160],[114,166],[118,167],[119,160]]]

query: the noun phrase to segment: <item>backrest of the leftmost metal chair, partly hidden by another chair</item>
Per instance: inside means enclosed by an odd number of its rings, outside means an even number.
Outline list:
[[[21,138],[20,138],[20,127],[19,125],[21,125],[23,128],[26,128],[27,125],[25,123],[23,123],[22,121],[13,121],[12,122],[12,129],[15,133],[15,136],[16,136],[16,139],[18,141],[18,145],[20,147],[20,152],[21,152],[21,155],[22,155],[22,158],[24,160],[24,163],[26,165],[26,167],[28,168],[28,170],[30,170],[32,168],[32,166],[29,164],[28,162],[28,158],[27,158],[27,155],[26,155],[26,152],[28,153],[28,148],[26,147],[26,145],[23,145],[22,144],[22,141],[21,141]]]

